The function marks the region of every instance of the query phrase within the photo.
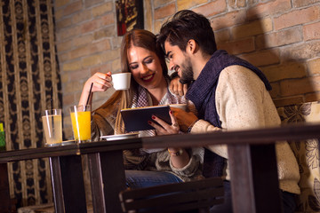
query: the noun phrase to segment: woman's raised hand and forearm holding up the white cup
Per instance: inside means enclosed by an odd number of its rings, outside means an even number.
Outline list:
[[[89,97],[90,88],[92,85],[92,92],[95,91],[107,91],[108,88],[112,87],[112,78],[111,78],[111,72],[108,72],[107,74],[103,73],[95,73],[92,75],[85,83],[84,88],[81,93],[81,97],[79,100],[79,105],[85,105],[86,101]],[[92,84],[93,83],[93,84]],[[90,99],[91,103],[92,97]]]

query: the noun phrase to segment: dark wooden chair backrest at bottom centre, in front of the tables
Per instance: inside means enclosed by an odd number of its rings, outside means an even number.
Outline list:
[[[190,182],[126,189],[119,193],[124,212],[209,212],[209,207],[223,202],[220,177]],[[192,211],[194,212],[194,211]]]

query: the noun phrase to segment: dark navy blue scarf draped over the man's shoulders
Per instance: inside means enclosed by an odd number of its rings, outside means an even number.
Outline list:
[[[215,51],[211,59],[205,64],[200,75],[188,88],[187,99],[191,100],[198,111],[198,118],[204,119],[212,125],[221,128],[219,114],[215,105],[215,92],[217,89],[218,79],[221,71],[229,66],[239,65],[251,69],[258,75],[268,91],[271,85],[268,79],[257,67],[252,66],[249,62],[228,55],[227,51]],[[220,177],[223,175],[224,158],[218,154],[204,149],[204,177]]]

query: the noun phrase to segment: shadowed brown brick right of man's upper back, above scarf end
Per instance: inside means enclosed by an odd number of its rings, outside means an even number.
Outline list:
[[[285,63],[284,65],[261,67],[269,82],[276,82],[290,78],[302,78],[307,76],[307,67],[298,62]]]

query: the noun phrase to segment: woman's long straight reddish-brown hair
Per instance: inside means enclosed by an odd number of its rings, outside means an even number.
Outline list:
[[[156,56],[159,58],[161,67],[163,70],[163,75],[168,76],[168,68],[164,59],[164,51],[161,46],[156,43],[156,36],[144,29],[132,29],[124,35],[121,43],[121,72],[129,73],[131,72],[128,61],[128,50],[132,47],[141,47],[147,49],[148,51],[154,51]],[[115,124],[115,134],[124,133],[124,122],[120,114],[120,110],[123,108],[128,108],[132,104],[133,94],[138,91],[139,84],[136,83],[132,77],[130,89],[128,91],[116,91],[108,101],[100,107],[107,105],[114,105],[117,99],[120,100],[118,106],[118,112],[116,115]]]

